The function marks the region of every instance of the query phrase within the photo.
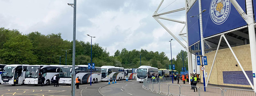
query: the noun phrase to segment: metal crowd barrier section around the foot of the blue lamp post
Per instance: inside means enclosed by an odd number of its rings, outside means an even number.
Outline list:
[[[205,88],[205,91],[204,91]],[[221,96],[222,90],[218,87],[199,87],[200,96]]]

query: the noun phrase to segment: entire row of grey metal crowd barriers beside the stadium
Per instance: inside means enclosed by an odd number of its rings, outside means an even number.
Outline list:
[[[165,96],[256,96],[256,92],[253,90],[221,89],[218,87],[198,87],[165,83],[170,82],[171,80],[172,78],[170,77],[155,80],[145,79],[142,88]]]

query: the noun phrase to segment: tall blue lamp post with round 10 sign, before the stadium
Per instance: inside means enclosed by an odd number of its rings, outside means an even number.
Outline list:
[[[203,12],[205,12],[206,9],[204,9],[201,13],[195,15],[195,16],[190,16],[190,17],[196,17],[197,16],[197,19],[198,19],[198,28],[199,28],[199,38],[200,38],[200,47],[201,47],[201,42],[202,42],[202,39],[201,39],[201,32],[200,32],[200,21],[199,21],[199,15],[202,14]],[[201,48],[201,53],[202,53],[202,48]],[[203,56],[201,55],[201,58],[202,58],[202,67],[204,67],[204,60],[203,60]],[[203,81],[204,81],[204,91],[206,91],[205,89],[205,78],[204,78],[204,71],[203,71]]]

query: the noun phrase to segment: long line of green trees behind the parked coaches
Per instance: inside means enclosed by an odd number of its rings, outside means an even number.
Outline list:
[[[10,30],[0,28],[0,64],[29,64],[29,65],[52,65],[59,64],[61,56],[61,65],[65,65],[65,52],[67,50],[67,65],[72,65],[72,44],[73,41],[63,40],[61,33],[44,35],[40,32],[31,32],[22,34],[16,29]],[[92,44],[92,62],[96,66],[104,65],[138,68],[141,65],[148,65],[156,68],[166,68],[171,64],[164,52],[153,52],[145,49],[128,51],[126,48],[117,50],[113,56],[110,56],[107,48],[99,44]],[[76,40],[76,65],[87,65],[91,62],[91,43]],[[188,67],[187,52],[183,51],[184,66]],[[176,59],[172,59],[176,70],[181,71],[182,51]]]

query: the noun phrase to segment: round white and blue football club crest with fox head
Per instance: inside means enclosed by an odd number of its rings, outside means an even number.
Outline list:
[[[229,0],[212,0],[210,5],[210,17],[212,21],[220,25],[224,23],[230,13],[231,3]]]

